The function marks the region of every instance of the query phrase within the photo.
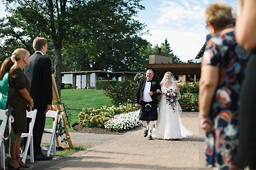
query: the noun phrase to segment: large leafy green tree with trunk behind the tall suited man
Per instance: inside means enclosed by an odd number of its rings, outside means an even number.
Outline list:
[[[131,39],[143,30],[144,25],[132,18],[137,14],[137,10],[144,9],[139,4],[140,1],[6,0],[3,3],[8,12],[15,16],[8,18],[8,22],[10,19],[17,19],[17,25],[12,28],[14,34],[10,36],[21,41],[23,45],[31,44],[30,42],[36,36],[51,39],[55,54],[55,79],[60,94],[63,45],[68,41],[75,45],[74,40],[84,42],[83,45],[86,47],[84,56],[87,58],[84,62],[87,67],[95,68],[98,65],[106,67],[106,64],[102,63],[102,59],[109,61],[111,58],[109,47],[112,47],[113,43],[109,44],[109,42]],[[15,31],[15,28],[20,30]],[[9,31],[10,29],[7,28]],[[112,47],[112,51],[114,49]],[[75,58],[79,58],[79,56]],[[111,69],[111,67],[106,68]]]

